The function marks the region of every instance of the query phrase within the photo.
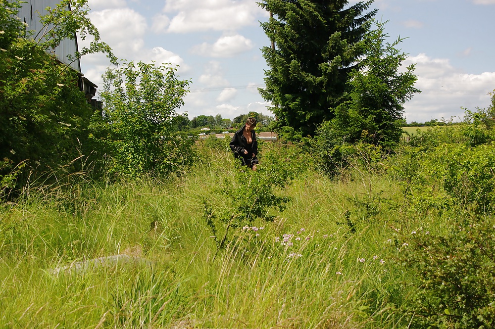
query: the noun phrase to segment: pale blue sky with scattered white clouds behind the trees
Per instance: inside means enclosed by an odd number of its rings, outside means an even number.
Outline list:
[[[355,3],[357,1],[350,1]],[[180,65],[191,79],[186,111],[233,119],[264,114],[257,93],[267,69],[259,50],[270,42],[259,27],[268,19],[255,0],[89,0],[90,18],[119,58]],[[377,18],[389,21],[391,40],[416,63],[422,91],[407,102],[408,122],[461,117],[462,108],[486,107],[495,89],[495,0],[375,0]],[[79,41],[80,45],[84,42]],[[83,73],[101,85],[104,56],[81,60]]]

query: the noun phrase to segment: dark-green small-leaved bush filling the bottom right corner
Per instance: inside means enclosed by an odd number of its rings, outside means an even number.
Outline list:
[[[401,307],[410,328],[494,328],[495,226],[473,217],[444,235],[403,237],[398,262],[414,271],[413,293]]]

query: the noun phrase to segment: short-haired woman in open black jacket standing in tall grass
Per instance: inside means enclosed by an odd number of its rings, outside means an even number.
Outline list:
[[[247,118],[246,125],[239,129],[232,140],[230,141],[230,149],[234,153],[234,156],[242,159],[242,164],[256,170],[258,164],[258,142],[256,141],[256,134],[253,129],[256,127],[256,120],[254,118]]]

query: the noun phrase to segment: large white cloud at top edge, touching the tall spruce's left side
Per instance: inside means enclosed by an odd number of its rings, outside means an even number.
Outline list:
[[[176,13],[163,32],[233,31],[257,25],[267,12],[253,0],[166,0],[163,11]]]

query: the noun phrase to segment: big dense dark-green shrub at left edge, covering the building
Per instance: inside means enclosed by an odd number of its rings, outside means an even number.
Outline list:
[[[61,64],[52,49],[76,33],[82,39],[92,36],[90,47],[70,59],[104,52],[115,62],[86,17],[87,0],[59,1],[40,17],[43,27],[37,36],[17,17],[21,2],[0,0],[0,159],[25,165],[19,184],[62,166],[65,172],[80,171],[84,161],[74,159],[95,151],[88,141],[94,110],[79,90],[77,72]],[[9,171],[0,168],[3,175]]]

